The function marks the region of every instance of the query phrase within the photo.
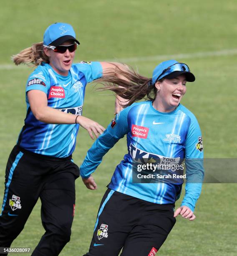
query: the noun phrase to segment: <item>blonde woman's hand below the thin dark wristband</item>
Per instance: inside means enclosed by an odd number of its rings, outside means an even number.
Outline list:
[[[76,123],[86,129],[92,139],[94,139],[93,133],[95,134],[96,138],[98,138],[98,136],[100,136],[100,134],[102,134],[105,130],[105,128],[99,123],[81,115],[78,116]]]

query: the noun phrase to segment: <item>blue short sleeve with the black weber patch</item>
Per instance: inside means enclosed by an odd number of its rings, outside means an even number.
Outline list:
[[[30,90],[40,90],[48,93],[50,87],[50,79],[48,74],[39,66],[32,72],[26,82],[26,92]]]

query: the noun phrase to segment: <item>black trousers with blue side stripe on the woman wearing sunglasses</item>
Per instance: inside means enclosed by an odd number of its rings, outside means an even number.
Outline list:
[[[77,177],[71,156],[54,158],[15,146],[6,167],[0,247],[10,247],[40,197],[45,233],[32,255],[58,255],[71,236]]]

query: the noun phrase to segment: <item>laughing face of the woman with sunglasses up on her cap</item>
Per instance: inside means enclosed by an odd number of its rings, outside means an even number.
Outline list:
[[[156,82],[156,89],[159,91],[153,102],[154,108],[160,112],[171,112],[179,105],[180,100],[186,92],[186,77],[184,74],[172,78],[165,78]]]

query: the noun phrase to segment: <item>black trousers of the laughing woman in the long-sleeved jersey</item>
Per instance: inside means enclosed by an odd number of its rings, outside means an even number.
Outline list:
[[[174,204],[158,205],[108,189],[87,256],[154,256],[173,228]]]

